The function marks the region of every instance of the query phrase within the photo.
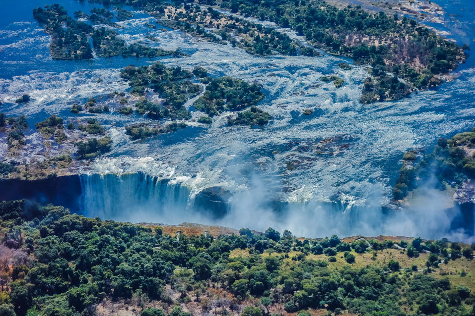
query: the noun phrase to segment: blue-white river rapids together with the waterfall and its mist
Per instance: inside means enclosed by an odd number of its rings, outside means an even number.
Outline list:
[[[325,53],[257,57],[179,31],[151,30],[146,23],[154,19],[139,11],[134,19],[119,22],[123,28],[117,31],[127,42],[179,48],[189,56],[52,60],[50,36],[31,14],[43,2],[28,1],[19,8],[0,0],[11,11],[0,22],[0,101],[8,115],[25,113],[32,122],[50,114],[67,118],[74,101],[128,89],[119,76],[122,67],[155,60],[184,68],[200,65],[211,76],[261,83],[266,98],[259,105],[272,115],[264,127],[227,127],[224,114],[211,126],[196,123],[175,133],[131,141],[121,127],[147,119],[94,114],[108,127],[114,145],[81,175],[83,213],[133,222],[199,221],[258,230],[273,226],[309,237],[332,233],[441,237],[449,232],[458,211],[443,211],[450,209],[450,199],[430,189],[409,210],[387,213],[382,206],[389,203],[405,151],[430,150],[439,137],[475,126],[474,58],[458,69],[457,79],[437,90],[398,102],[362,105],[359,98],[367,72],[350,60]],[[452,31],[454,40],[474,48],[469,41],[475,38],[471,1],[436,2],[448,14],[459,6],[465,11],[458,20],[447,15],[445,25],[431,26]],[[93,6],[60,3],[69,14],[78,9],[88,12]],[[159,41],[147,40],[147,34]],[[352,69],[340,69],[342,61]],[[343,87],[321,82],[322,75],[333,73],[344,79]],[[34,101],[15,104],[23,93]],[[314,111],[302,115],[304,109]],[[215,187],[230,196],[227,215],[219,219],[205,216],[195,203],[197,194]]]

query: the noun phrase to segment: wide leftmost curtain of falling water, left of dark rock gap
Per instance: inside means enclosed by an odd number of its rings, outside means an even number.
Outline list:
[[[190,187],[142,172],[81,174],[80,182],[81,212],[89,217],[166,224],[213,218],[206,214],[206,201],[201,195],[196,199]]]

